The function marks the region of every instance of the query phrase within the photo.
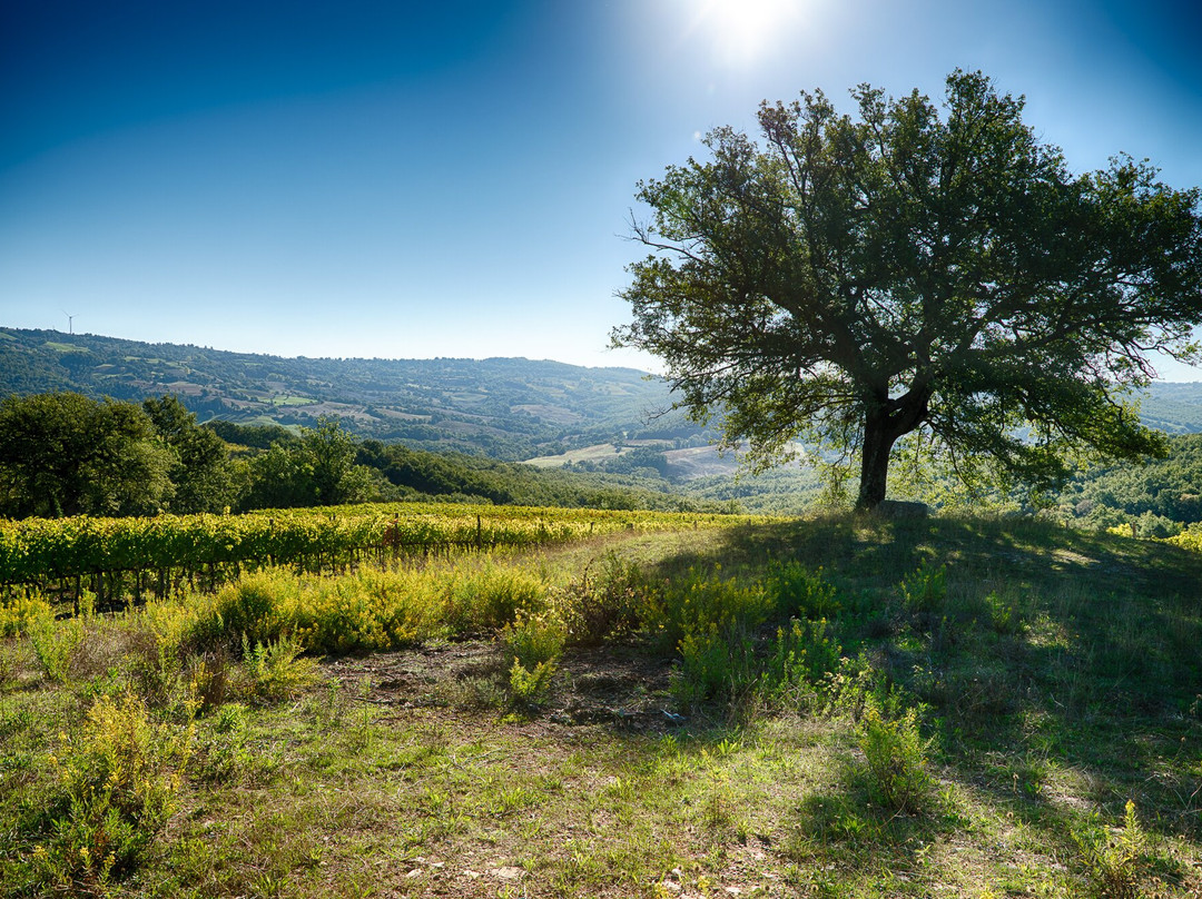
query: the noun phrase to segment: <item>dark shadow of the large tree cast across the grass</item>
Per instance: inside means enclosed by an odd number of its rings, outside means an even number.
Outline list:
[[[1121,822],[1129,798],[1148,830],[1202,839],[1202,554],[1035,520],[843,517],[736,528],[655,574],[721,562],[756,577],[773,561],[823,568],[845,600],[845,650],[928,705],[945,775],[1053,856],[1079,852],[1072,833],[1094,815]],[[921,565],[947,566],[934,613],[900,601]],[[855,791],[807,799],[798,821],[799,846],[874,852],[939,828],[874,814]]]

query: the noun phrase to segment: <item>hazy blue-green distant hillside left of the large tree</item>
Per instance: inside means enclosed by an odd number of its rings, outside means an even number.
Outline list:
[[[77,391],[139,400],[177,394],[200,421],[313,425],[338,416],[363,437],[499,459],[625,437],[696,439],[666,386],[626,368],[529,359],[310,359],[198,346],[0,329],[0,395]]]

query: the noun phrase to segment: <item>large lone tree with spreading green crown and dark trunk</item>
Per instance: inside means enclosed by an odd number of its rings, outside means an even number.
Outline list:
[[[1127,156],[1075,175],[1022,97],[956,71],[942,113],[917,90],[763,103],[763,145],[721,127],[712,159],[638,185],[651,249],[614,341],[660,356],[678,405],[768,464],[813,440],[886,495],[908,434],[954,464],[1040,487],[1082,448],[1159,454],[1131,387],[1149,355],[1195,358],[1200,191]]]

